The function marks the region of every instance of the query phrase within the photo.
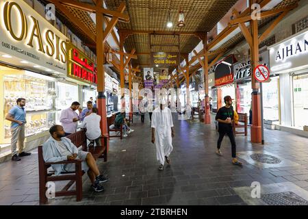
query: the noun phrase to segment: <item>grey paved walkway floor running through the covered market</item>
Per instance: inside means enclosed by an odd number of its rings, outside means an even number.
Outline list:
[[[303,204],[308,200],[308,138],[265,131],[266,144],[253,146],[249,136],[236,136],[244,166],[231,164],[229,139],[222,157],[215,153],[218,133],[198,120],[177,120],[171,165],[157,170],[149,116],[134,117],[135,131],[110,140],[108,162],[99,162],[110,177],[105,191],[92,192],[84,177],[84,198],[60,197],[49,205],[255,205]],[[38,205],[38,159],[0,164],[0,205]],[[251,183],[261,184],[261,199],[250,197]],[[257,200],[257,201],[255,201]],[[305,203],[306,201],[306,203]]]

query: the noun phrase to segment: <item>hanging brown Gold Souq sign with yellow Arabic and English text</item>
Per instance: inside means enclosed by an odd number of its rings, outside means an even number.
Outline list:
[[[151,63],[159,66],[179,66],[179,53],[151,53]]]

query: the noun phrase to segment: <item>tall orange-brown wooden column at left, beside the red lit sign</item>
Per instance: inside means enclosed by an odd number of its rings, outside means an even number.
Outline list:
[[[103,6],[103,0],[97,0],[99,7]],[[101,115],[101,132],[107,135],[107,110],[105,92],[105,44],[103,43],[103,14],[96,13],[96,31],[97,31],[97,92],[99,92],[97,106],[99,107],[99,115]],[[107,140],[107,151],[109,150],[109,140]]]

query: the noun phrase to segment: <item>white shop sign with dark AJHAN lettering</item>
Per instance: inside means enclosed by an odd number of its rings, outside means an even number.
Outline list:
[[[270,70],[273,73],[300,70],[308,66],[308,31],[276,44],[270,49]]]

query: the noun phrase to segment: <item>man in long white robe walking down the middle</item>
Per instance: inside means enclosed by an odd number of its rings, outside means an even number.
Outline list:
[[[164,170],[165,158],[170,164],[170,153],[173,149],[172,138],[175,136],[171,110],[166,107],[166,101],[159,101],[159,107],[152,116],[152,143],[156,146],[156,156],[159,161],[159,170]]]

